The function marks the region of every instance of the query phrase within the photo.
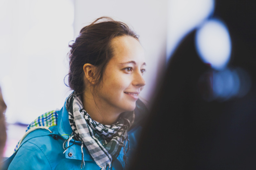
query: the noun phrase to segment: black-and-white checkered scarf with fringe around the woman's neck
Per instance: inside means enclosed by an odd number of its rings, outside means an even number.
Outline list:
[[[74,138],[84,144],[93,160],[102,169],[110,169],[113,161],[119,155],[122,147],[124,163],[129,150],[128,130],[134,122],[135,113],[124,112],[113,125],[103,125],[92,120],[84,110],[81,97],[73,92],[66,101],[68,119],[74,132]],[[128,149],[125,146],[128,143]],[[82,153],[83,157],[83,153]],[[83,166],[83,158],[81,168]]]

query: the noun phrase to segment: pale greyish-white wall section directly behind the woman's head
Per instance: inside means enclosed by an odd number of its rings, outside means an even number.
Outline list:
[[[140,42],[145,49],[147,72],[144,75],[147,85],[141,96],[149,99],[159,74],[165,65],[167,4],[168,0],[75,0],[74,32],[94,19],[108,16],[132,26],[140,35]]]

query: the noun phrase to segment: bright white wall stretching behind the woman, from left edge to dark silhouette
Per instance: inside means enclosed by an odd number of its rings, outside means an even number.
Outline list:
[[[213,0],[0,0],[0,85],[7,121],[30,123],[63,106],[69,93],[63,83],[68,42],[101,16],[123,21],[140,35],[147,63],[141,96],[149,100],[166,66],[166,51],[170,55],[180,37],[205,18],[206,2]]]

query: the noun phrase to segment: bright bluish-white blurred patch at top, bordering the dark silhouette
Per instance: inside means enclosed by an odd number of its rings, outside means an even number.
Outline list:
[[[214,0],[168,1],[166,57],[169,59],[180,40],[212,15]]]

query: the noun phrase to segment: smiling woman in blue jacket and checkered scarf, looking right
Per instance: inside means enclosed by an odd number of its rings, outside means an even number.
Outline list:
[[[102,17],[69,47],[74,92],[28,126],[9,169],[123,169],[135,150],[147,110],[138,99],[146,67],[138,36]]]

